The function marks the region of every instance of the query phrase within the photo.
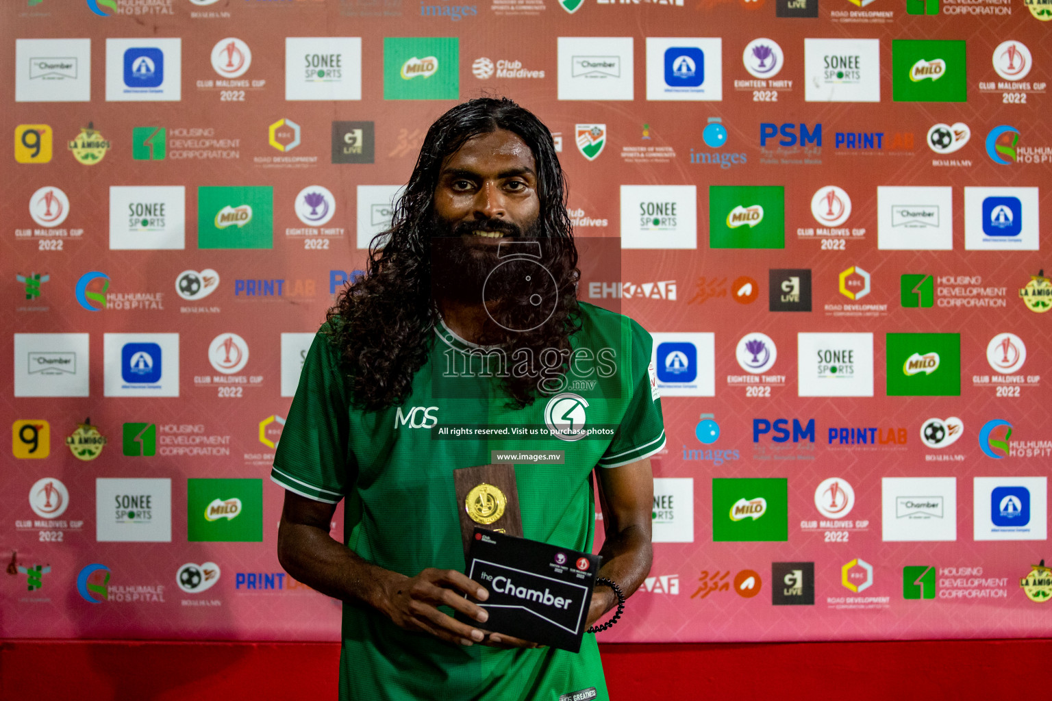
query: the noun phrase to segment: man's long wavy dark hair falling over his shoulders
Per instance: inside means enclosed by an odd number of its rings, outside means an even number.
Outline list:
[[[541,243],[544,266],[555,282],[549,307],[554,311],[528,331],[487,325],[481,341],[502,346],[512,357],[519,349],[528,349],[532,356],[554,349],[568,358],[569,338],[581,326],[575,289],[580,271],[566,213],[566,181],[551,132],[511,100],[479,98],[457,105],[427,130],[391,227],[369,246],[366,273],[344,288],[327,312],[330,341],[341,352],[356,407],[379,410],[402,405],[411,395],[412,378],[427,360],[439,321],[431,280],[439,174],[445,159],[469,139],[498,129],[518,135],[533,153],[540,214],[529,235]],[[561,371],[567,367],[564,363]],[[502,377],[511,405],[528,406],[542,391],[544,369],[535,370]]]

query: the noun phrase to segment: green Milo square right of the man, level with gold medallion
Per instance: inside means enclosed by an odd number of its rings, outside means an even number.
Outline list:
[[[789,482],[785,478],[712,480],[712,540],[789,539]]]

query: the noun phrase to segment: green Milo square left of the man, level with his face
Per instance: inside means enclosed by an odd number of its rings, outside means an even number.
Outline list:
[[[274,248],[274,188],[199,187],[198,248]]]

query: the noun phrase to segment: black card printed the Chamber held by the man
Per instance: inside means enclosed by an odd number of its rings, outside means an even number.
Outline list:
[[[489,620],[480,625],[460,613],[457,619],[576,653],[599,565],[598,555],[476,528],[466,574],[489,592],[488,599],[476,601],[489,612]]]

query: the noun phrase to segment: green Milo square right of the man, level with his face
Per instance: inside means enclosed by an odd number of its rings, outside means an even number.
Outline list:
[[[784,187],[709,186],[709,248],[785,247]]]

